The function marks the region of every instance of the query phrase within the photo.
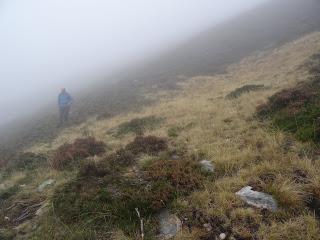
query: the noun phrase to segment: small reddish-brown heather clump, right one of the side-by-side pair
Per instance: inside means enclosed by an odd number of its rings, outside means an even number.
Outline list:
[[[165,151],[167,148],[168,144],[166,139],[156,136],[138,136],[133,142],[126,146],[126,150],[135,155],[142,153],[156,155],[161,151]]]

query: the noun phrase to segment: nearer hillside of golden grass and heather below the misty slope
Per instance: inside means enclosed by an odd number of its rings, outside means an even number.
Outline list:
[[[156,239],[166,209],[177,240],[319,239],[318,145],[257,115],[315,81],[319,53],[315,32],[25,149],[1,175],[0,238],[141,239],[142,219]],[[247,204],[246,186],[277,205]]]

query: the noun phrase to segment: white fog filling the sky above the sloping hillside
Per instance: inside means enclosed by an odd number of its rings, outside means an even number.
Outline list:
[[[1,0],[0,124],[264,1]]]

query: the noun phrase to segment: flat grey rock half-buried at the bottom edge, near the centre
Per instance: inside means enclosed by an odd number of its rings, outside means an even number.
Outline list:
[[[163,210],[159,214],[160,235],[158,239],[166,240],[173,238],[182,228],[181,220],[168,210]]]

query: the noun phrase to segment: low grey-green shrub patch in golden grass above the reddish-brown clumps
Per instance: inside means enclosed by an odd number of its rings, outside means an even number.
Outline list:
[[[143,118],[134,118],[129,122],[124,122],[118,126],[116,136],[122,136],[128,133],[143,135],[146,130],[153,130],[163,122],[163,118],[149,116]]]

